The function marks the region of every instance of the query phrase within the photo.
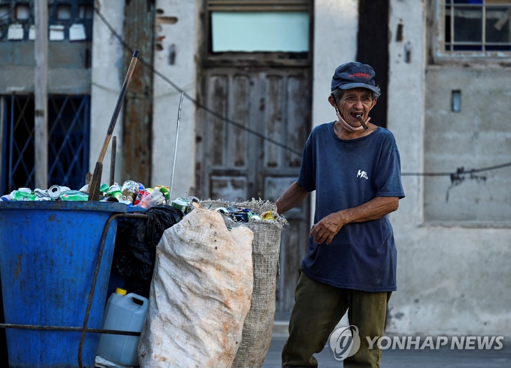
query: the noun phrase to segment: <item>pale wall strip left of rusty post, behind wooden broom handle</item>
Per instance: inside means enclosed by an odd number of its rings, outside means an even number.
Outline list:
[[[110,26],[121,37],[123,35],[123,16],[124,2],[99,0],[96,4],[101,14],[108,21]],[[112,118],[115,104],[119,99],[121,87],[126,76],[124,70],[124,60],[122,45],[115,38],[105,23],[94,15],[92,30],[92,86],[90,92],[90,160],[89,171],[94,172],[98,156],[103,147],[105,136]],[[138,66],[141,67],[141,66]],[[121,109],[115,129],[112,133],[117,136],[117,153],[115,155],[115,175],[116,182],[122,185],[124,178],[121,178],[122,169],[122,151],[121,133],[123,110]],[[110,157],[112,144],[103,159],[102,183],[108,183],[110,177]]]

